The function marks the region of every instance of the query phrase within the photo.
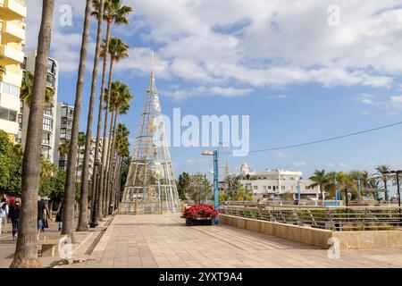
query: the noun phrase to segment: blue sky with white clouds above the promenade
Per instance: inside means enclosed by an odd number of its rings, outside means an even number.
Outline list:
[[[51,55],[60,64],[59,101],[73,104],[85,1],[56,0]],[[113,35],[130,45],[115,80],[135,99],[121,122],[135,138],[155,51],[163,113],[250,116],[250,149],[286,146],[367,130],[402,119],[400,1],[336,1],[339,26],[328,24],[332,1],[125,1],[129,27]],[[60,25],[70,4],[72,27]],[[40,1],[29,0],[27,49],[36,46]],[[81,129],[86,128],[96,23],[92,22]],[[100,82],[100,79],[99,79]],[[97,106],[97,105],[96,105]],[[96,118],[96,117],[95,117]],[[285,168],[373,172],[402,168],[402,126],[307,147],[230,157],[230,171]],[[175,172],[208,172],[203,148],[172,147]],[[221,163],[224,164],[225,156]]]

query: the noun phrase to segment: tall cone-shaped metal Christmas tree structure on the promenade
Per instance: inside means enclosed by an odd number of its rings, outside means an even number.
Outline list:
[[[179,194],[165,136],[161,105],[151,71],[121,214],[163,214],[180,211]]]

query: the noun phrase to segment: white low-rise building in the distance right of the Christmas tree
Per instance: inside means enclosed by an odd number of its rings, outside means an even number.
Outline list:
[[[302,179],[302,172],[267,169],[255,172],[246,163],[240,167],[240,183],[245,189],[252,189],[253,198],[275,198],[290,193],[297,198],[298,186],[301,198],[319,198],[320,187],[308,188],[313,181]]]

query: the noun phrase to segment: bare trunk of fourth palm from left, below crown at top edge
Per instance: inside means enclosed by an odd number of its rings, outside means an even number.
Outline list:
[[[109,50],[109,40],[110,40],[110,29],[112,27],[112,22],[108,21],[107,22],[107,27],[106,27],[106,46],[105,46],[105,51]],[[100,143],[100,134],[101,134],[101,125],[102,125],[102,110],[103,110],[103,103],[104,103],[104,93],[105,93],[105,81],[106,81],[106,68],[107,68],[107,54],[104,57],[104,67],[102,71],[102,86],[101,86],[101,96],[99,98],[99,110],[97,114],[97,130],[96,130],[96,151],[95,151],[95,157],[97,159],[98,155],[98,149],[97,147],[99,146]],[[100,178],[99,178],[99,199],[98,203],[96,205],[97,208],[97,216],[99,219],[102,219],[104,217],[104,207],[103,207],[103,201],[104,201],[104,193],[103,193],[103,185],[104,185],[104,172],[103,169],[105,167],[105,156],[104,156],[104,149],[106,145],[105,141],[105,135],[103,138],[103,143],[102,143],[102,165],[100,170],[97,170],[97,172],[100,172]],[[99,168],[96,168],[99,169]]]

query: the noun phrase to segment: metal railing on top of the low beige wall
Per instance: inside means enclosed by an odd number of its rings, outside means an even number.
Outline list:
[[[386,231],[402,226],[399,207],[221,206],[220,213],[331,231]]]

